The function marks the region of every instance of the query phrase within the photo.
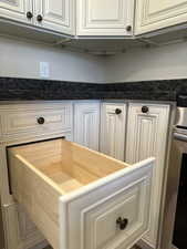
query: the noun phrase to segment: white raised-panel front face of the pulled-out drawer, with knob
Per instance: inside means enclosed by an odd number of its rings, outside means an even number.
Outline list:
[[[148,227],[150,172],[150,167],[136,169],[86,194],[61,197],[60,248],[127,249],[134,246]]]

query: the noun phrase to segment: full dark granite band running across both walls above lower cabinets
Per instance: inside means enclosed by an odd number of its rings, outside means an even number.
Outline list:
[[[187,94],[187,79],[95,84],[51,80],[0,77],[0,101],[149,100],[176,101]]]

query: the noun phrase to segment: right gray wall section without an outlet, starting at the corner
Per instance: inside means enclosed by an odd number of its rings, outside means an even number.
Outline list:
[[[187,43],[111,56],[106,69],[107,82],[187,79]]]

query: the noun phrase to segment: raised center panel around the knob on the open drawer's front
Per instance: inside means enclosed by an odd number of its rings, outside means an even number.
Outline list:
[[[108,196],[101,204],[91,207],[85,214],[85,248],[110,248],[123,243],[128,234],[141,227],[139,189],[133,187],[114,196]]]

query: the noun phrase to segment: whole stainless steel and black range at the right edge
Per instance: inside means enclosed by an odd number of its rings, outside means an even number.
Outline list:
[[[160,249],[187,249],[187,96],[177,100]]]

